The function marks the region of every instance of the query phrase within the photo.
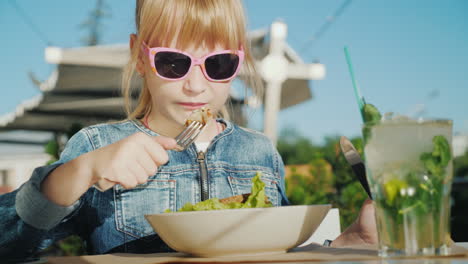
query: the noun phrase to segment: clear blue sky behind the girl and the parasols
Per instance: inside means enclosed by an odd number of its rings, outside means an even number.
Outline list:
[[[0,115],[39,93],[29,71],[46,79],[54,65],[44,49],[80,46],[79,28],[94,0],[16,0],[39,36],[10,3],[0,1]],[[134,1],[106,1],[111,17],[104,20],[103,44],[126,43],[134,31]],[[325,136],[360,135],[343,47],[348,46],[361,92],[381,111],[408,114],[424,105],[424,116],[449,118],[456,133],[468,134],[468,1],[354,0],[328,30],[308,40],[343,4],[340,0],[245,0],[249,29],[268,27],[275,19],[288,25],[288,43],[307,63],[325,64],[325,80],[312,81],[314,98],[282,111],[279,130],[295,127],[320,143]],[[254,117],[254,128],[261,120]]]

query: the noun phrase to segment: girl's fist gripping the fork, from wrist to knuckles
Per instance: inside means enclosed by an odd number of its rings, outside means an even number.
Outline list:
[[[101,191],[115,184],[126,189],[146,183],[168,162],[167,150],[175,148],[172,138],[135,133],[111,145],[83,155],[91,170],[91,183]],[[88,155],[86,157],[86,155]]]

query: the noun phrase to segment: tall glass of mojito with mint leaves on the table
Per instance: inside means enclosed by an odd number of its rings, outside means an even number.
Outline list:
[[[379,255],[447,255],[452,121],[375,118],[363,127]]]

